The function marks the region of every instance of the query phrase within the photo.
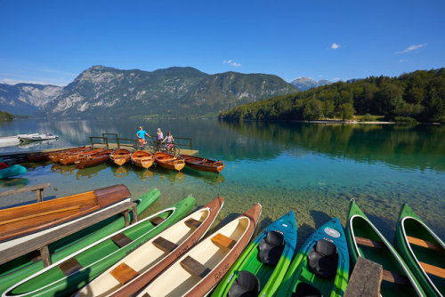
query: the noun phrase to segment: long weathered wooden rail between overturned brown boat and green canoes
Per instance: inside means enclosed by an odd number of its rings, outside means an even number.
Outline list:
[[[48,232],[40,237],[35,237],[29,239],[26,245],[14,245],[9,248],[5,248],[0,251],[0,265],[7,261],[18,258],[24,254],[38,250],[45,245],[49,245],[54,241],[57,241],[63,237],[68,237],[69,235],[76,233],[82,229],[90,227],[100,221],[108,219],[109,217],[116,215],[117,213],[122,213],[125,210],[134,207],[136,205],[134,202],[125,202],[119,205],[111,205],[109,208],[101,213],[96,213],[88,217],[82,218],[79,221],[69,224],[69,226],[56,229],[52,232]]]

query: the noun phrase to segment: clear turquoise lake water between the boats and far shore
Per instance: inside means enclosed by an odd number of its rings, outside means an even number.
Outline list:
[[[45,197],[124,183],[134,197],[153,189],[162,195],[150,212],[192,194],[205,205],[225,198],[220,221],[229,221],[250,205],[263,205],[260,228],[294,210],[298,242],[337,216],[344,224],[349,201],[356,199],[377,228],[393,238],[401,205],[408,202],[445,237],[445,128],[442,126],[342,125],[301,123],[220,123],[211,120],[44,121],[0,124],[0,136],[52,132],[60,140],[12,151],[62,148],[89,143],[102,132],[134,138],[139,125],[155,134],[161,127],[174,136],[193,138],[199,156],[224,160],[220,175],[185,168],[174,173],[125,165],[77,170],[74,166],[26,164],[19,179],[0,181],[0,190],[50,182]],[[54,190],[56,188],[57,190]],[[34,200],[34,194],[0,198],[0,207]]]

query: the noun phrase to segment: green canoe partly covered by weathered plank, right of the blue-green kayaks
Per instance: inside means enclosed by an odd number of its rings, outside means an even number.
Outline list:
[[[408,265],[353,200],[346,237],[354,264],[360,256],[383,266],[382,296],[425,296]]]

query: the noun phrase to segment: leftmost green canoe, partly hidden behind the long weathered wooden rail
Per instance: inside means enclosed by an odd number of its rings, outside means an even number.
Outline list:
[[[140,215],[147,210],[150,205],[155,203],[160,196],[158,189],[152,189],[141,197],[134,200],[138,204],[137,213]],[[133,221],[133,212],[130,212],[130,218]],[[93,226],[83,229],[69,237],[62,238],[59,241],[49,245],[52,263],[76,253],[80,249],[107,237],[119,229],[125,227],[124,217],[120,214],[101,221]],[[11,285],[17,284],[25,277],[44,269],[42,260],[36,260],[38,253],[28,254],[0,266],[0,294]],[[33,259],[34,258],[34,259]],[[40,258],[38,258],[40,259]]]

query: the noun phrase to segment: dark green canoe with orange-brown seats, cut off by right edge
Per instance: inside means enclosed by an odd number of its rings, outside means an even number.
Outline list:
[[[407,204],[401,208],[396,247],[428,296],[445,295],[445,245]]]

